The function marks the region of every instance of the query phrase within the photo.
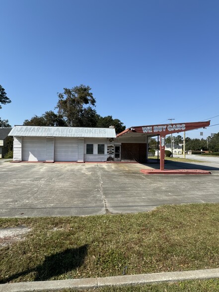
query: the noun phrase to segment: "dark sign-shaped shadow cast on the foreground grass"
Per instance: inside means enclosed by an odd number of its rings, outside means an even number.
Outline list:
[[[85,244],[78,248],[66,249],[63,252],[46,256],[41,265],[9,276],[1,280],[0,284],[8,283],[31,272],[35,274],[33,281],[46,281],[52,277],[65,274],[79,268],[84,263],[84,259],[87,255],[87,248],[88,245]]]

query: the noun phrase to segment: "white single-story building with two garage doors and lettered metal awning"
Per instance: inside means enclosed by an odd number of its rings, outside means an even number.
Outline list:
[[[116,138],[114,127],[15,126],[14,161],[134,161],[146,159],[146,135]]]

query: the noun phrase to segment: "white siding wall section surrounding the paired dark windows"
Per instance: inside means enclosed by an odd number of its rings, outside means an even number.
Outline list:
[[[86,144],[104,144],[105,154],[86,154]],[[106,161],[107,160],[107,139],[84,139],[84,161]]]

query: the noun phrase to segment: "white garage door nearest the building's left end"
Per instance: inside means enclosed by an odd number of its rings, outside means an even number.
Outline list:
[[[23,138],[23,161],[46,160],[46,138],[24,137]]]

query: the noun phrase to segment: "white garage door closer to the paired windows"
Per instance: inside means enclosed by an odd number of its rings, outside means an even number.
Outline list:
[[[55,139],[55,161],[77,161],[77,138]]]

